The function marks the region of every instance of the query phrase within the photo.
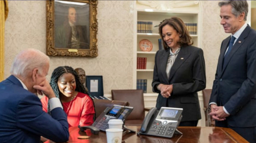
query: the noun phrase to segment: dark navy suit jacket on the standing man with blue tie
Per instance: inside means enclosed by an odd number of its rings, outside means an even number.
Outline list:
[[[235,127],[256,126],[256,31],[248,25],[233,45],[222,69],[230,36],[221,43],[210,102],[224,106],[230,116],[227,123]]]

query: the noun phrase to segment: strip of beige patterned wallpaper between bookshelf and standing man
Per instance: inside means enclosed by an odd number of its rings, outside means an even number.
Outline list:
[[[203,34],[202,45],[204,50],[204,59],[206,66],[206,89],[212,89],[213,80],[218,64],[218,56],[220,46],[223,39],[230,34],[226,34],[220,24],[220,8],[218,2],[220,0],[202,0],[203,11]]]

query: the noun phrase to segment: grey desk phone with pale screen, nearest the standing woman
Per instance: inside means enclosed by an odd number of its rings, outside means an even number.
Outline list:
[[[182,108],[161,107],[159,112],[157,108],[152,108],[146,115],[138,135],[153,135],[159,137],[171,138],[174,133],[179,133],[176,128],[179,126],[182,118]]]

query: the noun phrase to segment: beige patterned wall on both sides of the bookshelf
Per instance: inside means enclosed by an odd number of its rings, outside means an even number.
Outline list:
[[[207,88],[217,65],[219,47],[224,34],[219,24],[218,1],[202,1],[203,48],[206,61]],[[134,7],[130,0],[99,0],[98,49],[96,58],[50,57],[49,76],[55,67],[69,65],[82,67],[87,75],[102,75],[104,93],[111,89],[131,89],[133,71],[133,20]],[[26,48],[46,52],[46,3],[45,1],[9,1],[9,17],[5,29],[5,78],[15,55]]]

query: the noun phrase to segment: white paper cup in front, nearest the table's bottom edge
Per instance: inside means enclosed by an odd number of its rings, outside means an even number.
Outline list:
[[[122,131],[122,129],[106,129],[108,143],[121,143]]]

